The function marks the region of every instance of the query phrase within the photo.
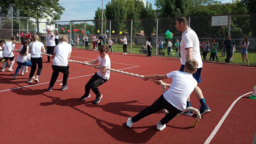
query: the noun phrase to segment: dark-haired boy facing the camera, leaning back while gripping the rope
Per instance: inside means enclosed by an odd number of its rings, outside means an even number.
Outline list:
[[[96,60],[84,62],[89,64],[99,63],[99,66],[102,66],[102,68],[100,68],[98,72],[95,73],[91,77],[91,79],[87,82],[87,84],[85,85],[85,93],[80,98],[80,100],[85,100],[87,98],[90,98],[91,96],[90,89],[91,89],[96,95],[94,104],[97,104],[100,102],[102,98],[102,94],[99,92],[98,87],[104,84],[106,81],[108,81],[110,76],[110,71],[106,70],[107,68],[110,69],[110,58],[108,56],[108,52],[109,52],[109,47],[107,45],[101,45],[99,47],[99,57]]]

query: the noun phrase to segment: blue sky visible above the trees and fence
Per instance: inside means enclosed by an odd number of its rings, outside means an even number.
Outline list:
[[[103,0],[103,8],[110,0]],[[145,2],[145,0],[143,0]],[[231,0],[219,0],[222,3],[230,2]],[[157,9],[155,0],[148,0],[152,3],[153,9]],[[97,7],[102,7],[101,0],[59,0],[61,6],[65,8],[65,12],[61,16],[60,21],[70,21],[70,20],[92,20],[95,16],[95,11]]]

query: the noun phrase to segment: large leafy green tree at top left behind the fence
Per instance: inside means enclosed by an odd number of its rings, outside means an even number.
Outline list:
[[[15,0],[20,3],[20,15],[23,17],[34,17],[37,23],[37,29],[39,31],[39,22],[41,19],[46,19],[47,21],[56,21],[61,19],[61,15],[65,11],[59,4],[59,0],[30,0],[22,1]],[[51,23],[48,23],[51,24]]]

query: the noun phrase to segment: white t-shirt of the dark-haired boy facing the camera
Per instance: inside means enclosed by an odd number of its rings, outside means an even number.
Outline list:
[[[99,66],[104,66],[110,69],[110,58],[108,55],[106,55],[103,59],[99,56],[97,58],[97,60],[99,60]],[[105,73],[102,73],[100,70],[98,70],[97,72],[98,76],[105,78],[105,79],[109,79],[110,77],[110,71],[106,70]]]

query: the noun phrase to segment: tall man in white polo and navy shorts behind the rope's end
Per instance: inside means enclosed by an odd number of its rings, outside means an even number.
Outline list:
[[[200,47],[199,47],[200,44],[199,44],[197,34],[188,26],[188,21],[186,17],[177,18],[175,27],[177,28],[178,31],[182,32],[182,40],[180,41],[180,56],[181,56],[182,65],[180,67],[180,71],[184,70],[186,60],[189,60],[189,59],[196,60],[198,63],[198,67],[197,67],[197,72],[193,74],[193,77],[195,78],[197,83],[200,83],[201,82],[200,74],[203,67],[203,63],[200,55]],[[201,89],[198,86],[196,86],[193,92],[195,93],[195,95],[197,96],[197,98],[201,103],[201,107],[199,110],[200,114],[202,115],[202,114],[211,112],[208,105],[206,105],[205,103],[205,99]],[[187,107],[190,107],[190,98],[187,99]],[[188,116],[192,116],[193,112],[188,111],[184,114]]]

